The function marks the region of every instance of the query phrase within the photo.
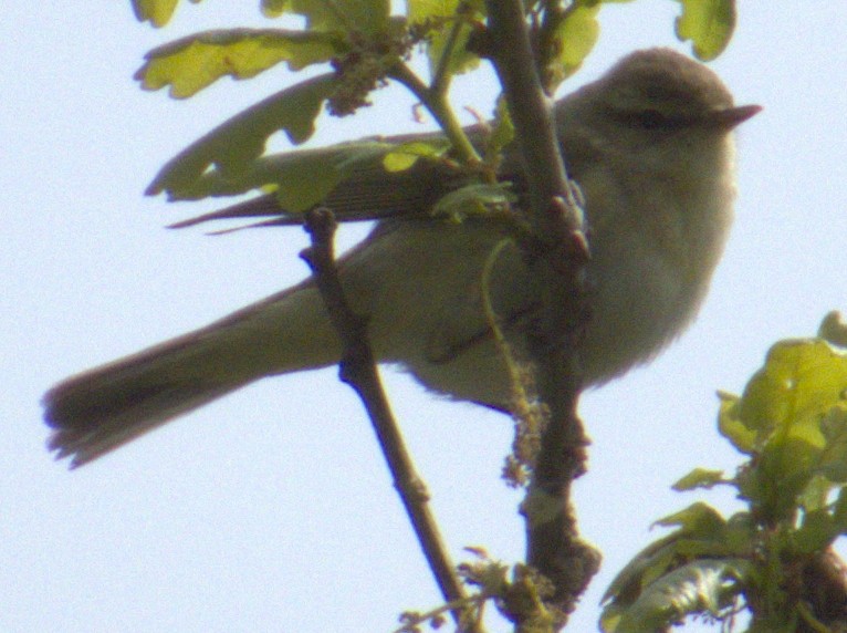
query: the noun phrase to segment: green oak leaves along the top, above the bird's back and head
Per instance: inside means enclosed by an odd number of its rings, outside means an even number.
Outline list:
[[[625,1],[526,3],[540,74],[550,94],[579,68],[597,41],[602,6]],[[677,34],[692,40],[701,58],[715,56],[734,25],[734,2],[676,1],[682,8]],[[165,25],[177,4],[177,0],[133,0],[136,17],[155,27]],[[260,9],[269,19],[300,18],[303,28],[195,33],[150,51],[135,77],[145,90],[168,89],[170,96],[187,98],[222,77],[247,80],[278,65],[293,72],[325,72],[289,85],[199,138],[163,167],[148,195],[165,193],[171,200],[195,200],[252,189],[275,191],[280,206],[291,215],[287,219],[299,222],[302,211],[320,204],[356,169],[384,162],[387,170],[402,170],[422,159],[473,175],[472,188],[443,203],[448,216],[457,205],[488,209],[510,201],[502,188],[494,190],[499,152],[511,141],[510,134],[500,134],[510,129],[506,110],[498,108],[490,135],[494,142],[479,147],[458,125],[447,100],[453,76],[475,69],[502,45],[487,38],[482,0],[407,0],[400,15],[391,14],[389,0],[261,0]],[[416,51],[428,60],[429,81],[408,65]],[[291,143],[302,144],[313,135],[324,108],[338,116],[351,114],[369,104],[373,92],[389,81],[410,90],[443,134],[400,148],[373,141],[331,152],[265,154],[272,135],[282,132]],[[446,147],[451,148],[449,153]]]

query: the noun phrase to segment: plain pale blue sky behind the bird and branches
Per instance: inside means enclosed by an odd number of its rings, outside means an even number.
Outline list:
[[[230,4],[182,6],[165,31],[135,22],[128,2],[4,8],[4,632],[376,632],[439,600],[368,421],[332,370],[264,381],[74,473],[44,449],[39,398],[52,383],[305,274],[299,229],[168,231],[212,205],[142,196],[177,151],[286,81],[227,80],[187,102],[137,89],[132,73],[158,43],[266,24],[258,2]],[[738,463],[714,430],[714,391],[740,391],[771,342],[847,310],[847,3],[788,6],[741,0],[712,64],[739,103],[765,110],[740,131],[738,221],[698,322],[652,365],[584,398],[594,445],[578,512],[606,560],[572,631],[595,630],[610,577],[656,538],[650,522],[697,498],[669,485]],[[572,87],[637,48],[687,50],[677,11],[670,0],[604,9]],[[481,112],[492,94],[489,80],[457,86]],[[315,143],[419,129],[399,91],[375,98],[360,117],[326,121]],[[519,496],[499,480],[509,422],[385,374],[456,558],[481,544],[520,559]]]

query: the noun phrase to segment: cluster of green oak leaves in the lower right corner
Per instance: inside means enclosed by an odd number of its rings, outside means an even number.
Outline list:
[[[721,434],[746,459],[735,475],[696,469],[677,490],[729,486],[745,509],[703,502],[658,525],[676,530],[614,580],[607,633],[662,631],[740,609],[750,632],[829,631],[847,622],[847,577],[832,544],[847,533],[847,328],[776,343],[741,396],[721,393]]]

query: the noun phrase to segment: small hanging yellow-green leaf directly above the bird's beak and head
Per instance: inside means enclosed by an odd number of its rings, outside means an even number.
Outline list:
[[[720,55],[735,29],[735,0],[678,0],[677,38],[691,40],[694,54],[703,61]]]

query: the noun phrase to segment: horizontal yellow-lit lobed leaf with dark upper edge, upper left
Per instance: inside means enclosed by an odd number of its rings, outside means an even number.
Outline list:
[[[189,97],[222,76],[250,79],[280,62],[299,71],[341,52],[330,33],[272,29],[205,31],[154,49],[135,73],[145,90],[170,85],[170,96]]]

